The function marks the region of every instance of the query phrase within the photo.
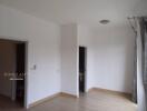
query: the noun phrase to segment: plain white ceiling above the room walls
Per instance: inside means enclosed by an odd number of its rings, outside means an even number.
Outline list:
[[[147,0],[0,0],[0,3],[47,21],[122,23],[127,17],[147,16]]]

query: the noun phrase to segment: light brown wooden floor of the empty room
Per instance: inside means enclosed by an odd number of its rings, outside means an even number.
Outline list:
[[[137,105],[129,97],[105,91],[90,91],[88,94],[80,94],[79,99],[60,95],[29,110],[8,101],[0,98],[0,111],[137,111]]]

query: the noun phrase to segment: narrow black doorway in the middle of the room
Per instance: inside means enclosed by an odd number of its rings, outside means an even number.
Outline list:
[[[79,92],[84,93],[86,90],[86,54],[87,49],[79,47]]]

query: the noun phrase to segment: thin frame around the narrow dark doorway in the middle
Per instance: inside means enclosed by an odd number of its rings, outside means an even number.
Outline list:
[[[78,47],[78,93],[79,93],[79,48],[85,48],[85,92],[87,92],[87,51],[88,48],[86,46]]]

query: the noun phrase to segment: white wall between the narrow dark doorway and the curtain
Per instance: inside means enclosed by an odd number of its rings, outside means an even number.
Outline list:
[[[79,46],[88,48],[87,89],[131,92],[134,32],[127,24],[78,26]]]

